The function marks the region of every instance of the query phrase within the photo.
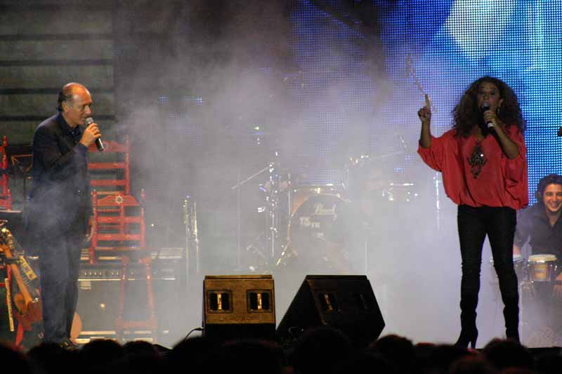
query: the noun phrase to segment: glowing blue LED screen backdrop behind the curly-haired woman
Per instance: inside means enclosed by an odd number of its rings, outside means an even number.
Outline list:
[[[407,173],[419,131],[415,113],[423,104],[411,73],[433,100],[435,135],[450,128],[450,111],[464,89],[488,74],[514,88],[528,121],[531,201],[543,175],[562,173],[562,138],[556,137],[562,124],[562,1],[374,1],[378,40],[320,3],[337,9],[335,1],[299,1],[292,11],[293,49],[302,69],[294,89],[308,152],[341,160],[348,156],[342,145],[351,152],[353,142],[358,154],[366,137],[375,155],[407,144],[407,152],[391,159],[396,173]],[[373,74],[373,60],[384,75]],[[315,171],[314,182],[342,177],[329,164]]]

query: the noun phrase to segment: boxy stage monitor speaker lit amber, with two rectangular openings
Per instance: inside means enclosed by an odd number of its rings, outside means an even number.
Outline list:
[[[205,276],[203,328],[209,338],[275,339],[275,291],[271,275]]]

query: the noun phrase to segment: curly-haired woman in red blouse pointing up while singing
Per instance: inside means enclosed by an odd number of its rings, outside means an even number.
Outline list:
[[[453,109],[453,127],[431,135],[429,106],[418,111],[418,153],[443,175],[457,203],[462,258],[461,333],[457,345],[476,346],[476,306],[482,247],[488,235],[504,302],[506,337],[519,340],[518,281],[513,264],[516,210],[528,204],[525,120],[514,91],[500,79],[474,81]]]

